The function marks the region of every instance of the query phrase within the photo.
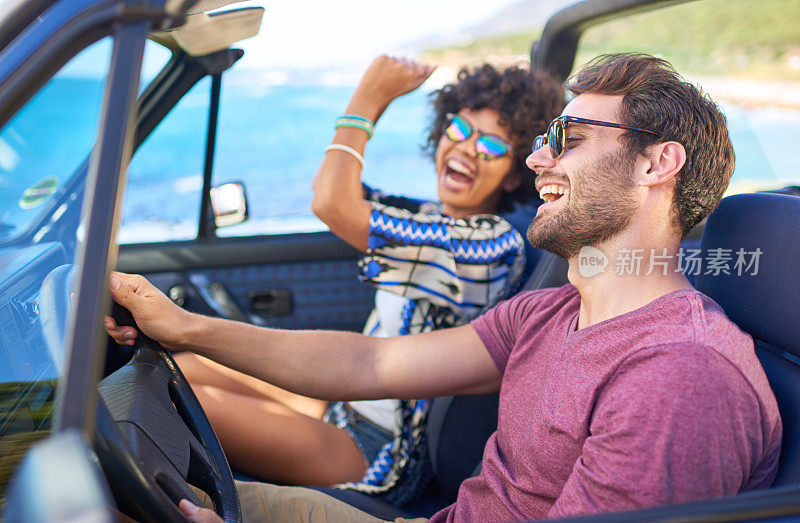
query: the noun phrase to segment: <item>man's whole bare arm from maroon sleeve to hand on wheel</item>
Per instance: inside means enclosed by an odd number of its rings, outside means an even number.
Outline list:
[[[430,398],[497,390],[500,373],[469,325],[399,338],[351,332],[256,327],[181,309],[146,278],[112,273],[114,301],[141,332],[293,392],[321,399]],[[134,345],[132,327],[111,317],[117,343]]]

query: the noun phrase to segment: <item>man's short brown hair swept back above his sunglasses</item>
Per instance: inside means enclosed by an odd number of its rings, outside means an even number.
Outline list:
[[[576,95],[622,95],[620,123],[658,134],[626,131],[623,140],[633,153],[667,141],[683,145],[686,163],[676,175],[673,200],[674,222],[683,235],[719,205],[734,165],[725,116],[668,62],[645,54],[603,55],[565,87]]]

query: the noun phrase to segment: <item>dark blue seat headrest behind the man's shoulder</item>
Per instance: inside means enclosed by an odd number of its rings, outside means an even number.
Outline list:
[[[744,331],[800,357],[800,198],[755,193],[723,199],[708,218],[701,249],[697,290]],[[740,250],[744,265],[737,267]],[[709,256],[717,255],[730,256],[730,274],[709,271]],[[754,257],[757,272],[746,267]]]

